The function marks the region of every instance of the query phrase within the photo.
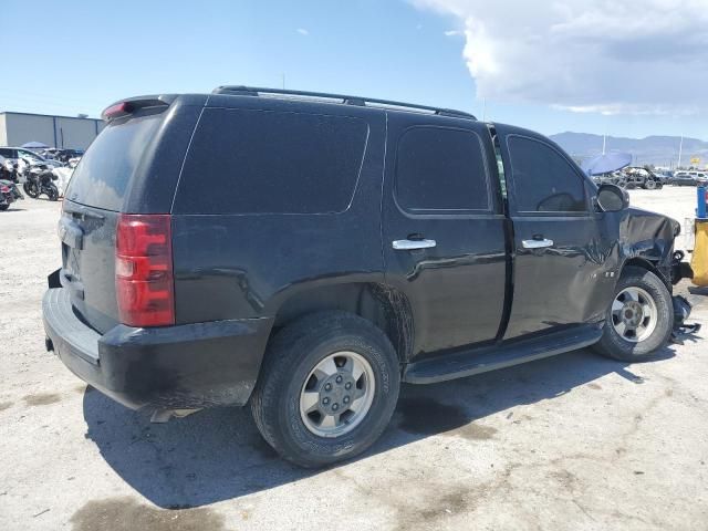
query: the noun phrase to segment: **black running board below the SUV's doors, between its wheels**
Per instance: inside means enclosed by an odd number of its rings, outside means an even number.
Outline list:
[[[435,384],[510,367],[590,346],[602,337],[601,325],[587,325],[501,346],[486,346],[410,363],[403,381]]]

